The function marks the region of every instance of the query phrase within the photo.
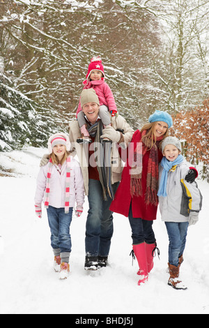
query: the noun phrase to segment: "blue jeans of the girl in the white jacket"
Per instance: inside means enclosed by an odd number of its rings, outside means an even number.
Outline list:
[[[47,209],[51,230],[51,246],[53,249],[59,248],[61,253],[71,252],[70,223],[72,221],[72,210],[73,208],[70,207],[69,213],[65,214],[64,207],[56,209],[56,207],[49,206]]]

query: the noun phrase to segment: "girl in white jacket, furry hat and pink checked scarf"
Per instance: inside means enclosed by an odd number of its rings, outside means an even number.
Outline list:
[[[60,278],[64,279],[70,272],[72,211],[76,201],[75,214],[82,214],[84,180],[79,163],[70,156],[68,135],[56,133],[49,137],[48,150],[49,162],[40,167],[37,178],[35,209],[36,215],[41,218],[44,201],[51,230],[54,269],[60,271]]]

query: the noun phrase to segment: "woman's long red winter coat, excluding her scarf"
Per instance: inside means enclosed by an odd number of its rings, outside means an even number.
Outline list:
[[[141,132],[137,130],[133,137],[132,142],[134,143],[134,147],[132,150],[136,148],[137,142],[141,140]],[[130,153],[129,156],[132,156]],[[146,151],[146,154],[143,156],[142,160],[142,174],[141,174],[141,183],[142,183],[142,196],[134,196],[132,197],[130,194],[130,165],[127,161],[125,167],[123,168],[123,173],[121,177],[121,183],[118,186],[118,190],[116,191],[115,199],[111,202],[111,206],[109,209],[119,214],[123,214],[124,216],[128,216],[130,210],[130,204],[132,203],[132,214],[134,218],[142,218],[147,221],[156,220],[157,214],[157,206],[153,204],[146,205],[145,203],[145,193],[146,193],[146,176],[148,171],[148,158],[150,156],[150,151]],[[132,158],[132,157],[131,157]],[[162,160],[162,152],[158,150],[158,162]]]

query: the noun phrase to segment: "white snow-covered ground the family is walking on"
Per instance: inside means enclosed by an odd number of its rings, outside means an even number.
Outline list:
[[[158,214],[154,223],[160,260],[146,285],[137,285],[137,261],[132,266],[130,225],[114,214],[109,267],[84,271],[85,221],[88,211],[73,218],[70,277],[60,281],[52,269],[53,253],[47,215],[36,219],[33,197],[36,175],[45,149],[0,153],[0,313],[209,313],[209,184],[198,181],[203,194],[199,223],[189,227],[181,278],[188,290],[167,285],[167,232]]]

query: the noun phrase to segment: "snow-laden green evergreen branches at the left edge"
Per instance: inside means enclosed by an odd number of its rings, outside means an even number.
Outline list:
[[[0,74],[0,151],[21,149],[25,144],[46,146],[49,134],[57,131],[59,121],[49,112],[13,87]]]

